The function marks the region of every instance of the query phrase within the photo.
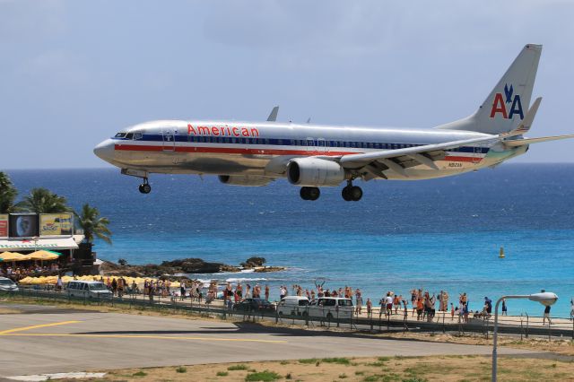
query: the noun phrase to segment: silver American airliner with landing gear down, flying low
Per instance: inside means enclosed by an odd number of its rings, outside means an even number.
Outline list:
[[[152,173],[213,174],[226,185],[259,187],[287,178],[303,200],[319,187],[344,184],[345,201],[359,201],[361,179],[418,180],[493,168],[530,144],[574,135],[526,138],[542,98],[530,106],[542,45],[527,44],[483,104],[469,117],[433,128],[321,126],[276,122],[156,120],[120,131],[94,153],[143,179]],[[310,122],[310,121],[309,121]]]

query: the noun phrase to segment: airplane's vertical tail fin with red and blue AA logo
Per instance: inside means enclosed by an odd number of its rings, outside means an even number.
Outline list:
[[[529,109],[541,52],[542,45],[527,44],[472,116],[438,128],[486,134],[515,130]]]

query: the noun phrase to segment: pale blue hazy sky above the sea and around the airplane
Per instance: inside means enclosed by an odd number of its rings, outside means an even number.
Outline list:
[[[544,100],[530,135],[570,134],[573,20],[559,0],[0,0],[0,169],[107,167],[91,150],[124,126],[277,104],[285,121],[436,126],[472,113],[531,42]]]

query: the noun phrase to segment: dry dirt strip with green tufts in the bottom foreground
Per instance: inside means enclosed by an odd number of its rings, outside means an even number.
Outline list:
[[[483,356],[379,357],[222,363],[150,369],[119,369],[105,381],[483,381],[491,378],[491,359]],[[95,379],[94,379],[95,380]],[[102,380],[102,379],[98,379]],[[574,381],[574,363],[501,357],[500,381]]]

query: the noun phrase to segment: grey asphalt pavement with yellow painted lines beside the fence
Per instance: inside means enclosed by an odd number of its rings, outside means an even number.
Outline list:
[[[488,346],[12,304],[0,304],[0,349],[2,377],[250,360],[491,353]],[[500,354],[527,353],[533,352],[500,349]]]

